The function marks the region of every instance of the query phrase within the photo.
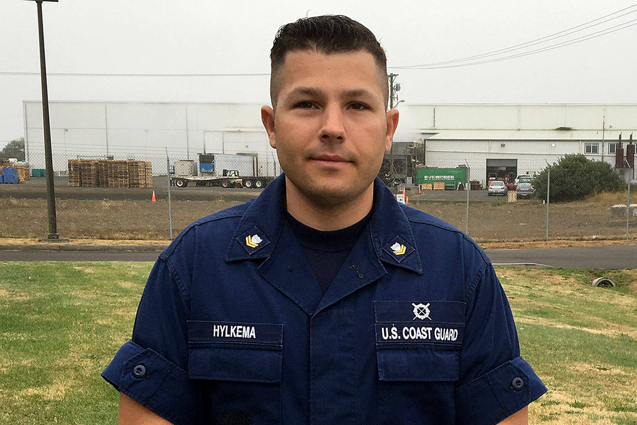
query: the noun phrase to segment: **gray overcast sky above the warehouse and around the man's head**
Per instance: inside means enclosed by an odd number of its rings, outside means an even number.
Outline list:
[[[267,73],[276,30],[307,13],[339,13],[359,20],[387,50],[389,66],[404,66],[510,47],[633,4],[633,0],[60,0],[45,2],[43,9],[48,72]],[[587,33],[637,18],[637,8],[627,11],[635,13]],[[0,28],[2,147],[23,134],[22,100],[41,99],[38,75],[1,74],[39,71],[35,2],[1,0]],[[562,40],[566,39],[554,43]],[[636,40],[637,26],[633,26],[507,61],[393,71],[399,74],[401,97],[407,103],[637,103]],[[267,76],[49,76],[48,89],[50,100],[269,103]]]

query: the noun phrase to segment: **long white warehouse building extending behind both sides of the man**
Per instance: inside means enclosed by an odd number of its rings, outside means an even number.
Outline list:
[[[261,175],[280,170],[256,103],[50,101],[54,170],[66,159],[153,161],[155,174],[197,154],[252,153]],[[615,164],[619,135],[637,129],[637,104],[401,104],[395,141],[424,141],[429,167],[468,164],[471,178],[540,171],[564,154]],[[27,161],[45,168],[40,101],[24,101]]]

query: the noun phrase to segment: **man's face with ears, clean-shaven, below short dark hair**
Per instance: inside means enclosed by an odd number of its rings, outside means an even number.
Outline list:
[[[320,206],[371,190],[398,122],[385,112],[387,76],[374,57],[292,51],[276,78],[276,111],[261,115],[289,183]]]

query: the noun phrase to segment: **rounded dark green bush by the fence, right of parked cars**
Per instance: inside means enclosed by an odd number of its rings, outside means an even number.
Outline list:
[[[564,155],[533,179],[537,198],[547,197],[547,173],[551,171],[550,202],[584,199],[599,192],[617,192],[624,182],[605,161],[593,161],[582,154]]]

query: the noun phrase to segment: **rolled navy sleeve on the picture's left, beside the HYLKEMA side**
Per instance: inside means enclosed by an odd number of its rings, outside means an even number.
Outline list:
[[[187,373],[189,302],[174,268],[161,257],[141,297],[132,340],[122,345],[102,377],[173,424],[199,415],[199,389]]]

